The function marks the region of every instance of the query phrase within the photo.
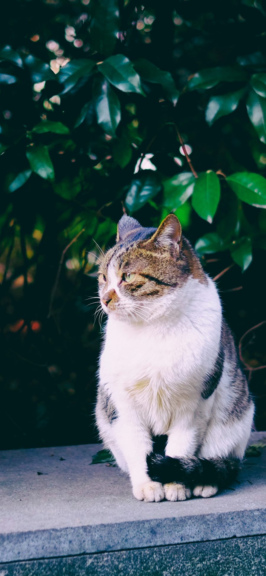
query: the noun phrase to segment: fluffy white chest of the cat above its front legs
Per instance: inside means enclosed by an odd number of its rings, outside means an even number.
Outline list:
[[[166,433],[178,414],[195,410],[199,382],[218,352],[218,294],[212,283],[196,288],[204,306],[193,298],[170,321],[168,316],[134,325],[108,319],[100,381],[120,410],[137,410],[154,434]]]

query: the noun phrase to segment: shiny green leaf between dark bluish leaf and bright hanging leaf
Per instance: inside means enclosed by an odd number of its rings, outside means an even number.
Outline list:
[[[169,210],[176,210],[191,196],[195,177],[191,172],[182,172],[164,181],[163,204]]]

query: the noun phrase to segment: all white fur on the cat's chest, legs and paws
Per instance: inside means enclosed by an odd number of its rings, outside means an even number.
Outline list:
[[[120,293],[112,263],[108,279],[108,290],[115,289],[120,299],[108,317],[99,374],[119,418],[110,425],[97,406],[100,435],[121,469],[130,474],[136,498],[159,501],[165,492],[168,499],[188,498],[180,485],[167,485],[166,490],[147,476],[151,434],[168,435],[168,456],[191,456],[200,445],[199,456],[242,457],[252,425],[253,407],[241,420],[222,422],[226,366],[210,398],[203,400],[200,394],[219,350],[218,292],[211,279],[206,286],[191,277],[183,287],[134,308],[134,302]],[[216,487],[211,488],[196,492],[207,497],[215,493]]]

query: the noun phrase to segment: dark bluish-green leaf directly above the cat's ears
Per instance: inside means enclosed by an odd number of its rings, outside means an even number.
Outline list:
[[[154,198],[161,189],[161,181],[156,172],[153,170],[138,172],[131,182],[125,200],[130,214],[139,210],[150,198]]]

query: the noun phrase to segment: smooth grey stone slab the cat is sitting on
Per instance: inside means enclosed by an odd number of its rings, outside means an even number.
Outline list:
[[[253,433],[251,441],[265,437]],[[119,469],[91,466],[100,448],[0,453],[0,562],[266,532],[266,448],[214,498],[160,503],[136,501]]]

